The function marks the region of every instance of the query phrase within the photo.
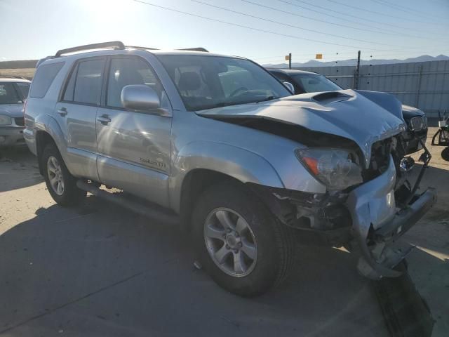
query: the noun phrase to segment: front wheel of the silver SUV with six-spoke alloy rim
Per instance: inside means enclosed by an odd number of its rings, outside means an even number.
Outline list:
[[[229,227],[234,229],[229,232]],[[279,286],[295,264],[294,230],[241,185],[219,183],[203,192],[192,213],[192,228],[203,268],[239,296],[257,296]]]

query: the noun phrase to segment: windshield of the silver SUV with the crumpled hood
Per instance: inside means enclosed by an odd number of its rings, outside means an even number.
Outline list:
[[[249,60],[199,55],[163,55],[159,59],[189,111],[291,95],[271,74]]]

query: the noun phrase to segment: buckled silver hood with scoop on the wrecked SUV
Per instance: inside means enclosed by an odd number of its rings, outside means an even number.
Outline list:
[[[401,110],[401,103],[388,93],[342,90],[217,107],[197,114],[215,119],[272,119],[349,138],[361,148],[368,168],[373,143],[406,129]]]

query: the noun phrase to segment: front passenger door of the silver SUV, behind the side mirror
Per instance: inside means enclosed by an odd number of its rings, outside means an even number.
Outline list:
[[[151,86],[170,110],[165,91],[148,62],[137,56],[110,58],[105,107],[97,110],[98,174],[101,183],[168,206],[171,117],[123,109],[121,89]]]

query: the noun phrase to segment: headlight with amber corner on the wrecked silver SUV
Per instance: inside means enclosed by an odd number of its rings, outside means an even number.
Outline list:
[[[310,173],[329,190],[344,190],[363,183],[356,155],[347,150],[297,149],[296,154]]]

